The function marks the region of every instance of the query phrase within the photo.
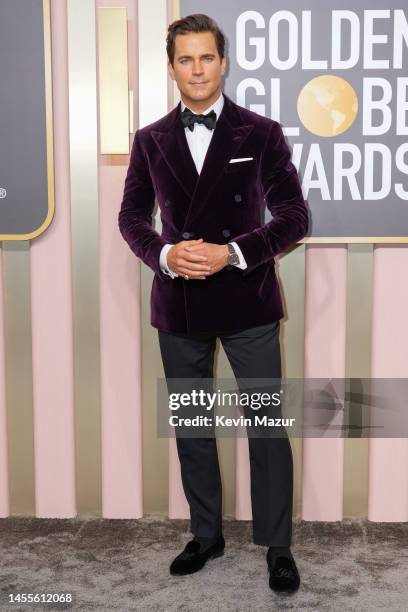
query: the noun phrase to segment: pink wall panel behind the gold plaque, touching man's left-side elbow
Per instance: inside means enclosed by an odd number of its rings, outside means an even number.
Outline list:
[[[137,89],[137,14],[127,8],[129,87]],[[133,138],[130,139],[130,147]],[[143,516],[140,262],[118,229],[128,156],[99,156],[102,514]]]

